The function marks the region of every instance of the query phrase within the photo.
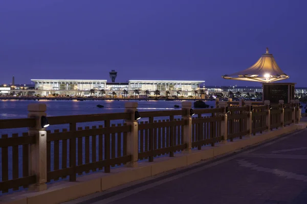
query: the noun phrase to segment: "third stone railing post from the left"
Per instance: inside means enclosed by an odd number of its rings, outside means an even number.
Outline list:
[[[182,101],[182,118],[185,121],[183,126],[183,142],[187,144],[187,148],[184,150],[185,153],[190,153],[192,150],[192,117],[190,116],[190,109],[192,108],[191,101]],[[179,137],[177,135],[177,137]]]

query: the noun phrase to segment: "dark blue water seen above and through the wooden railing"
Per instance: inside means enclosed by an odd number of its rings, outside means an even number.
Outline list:
[[[131,101],[131,100],[130,100]],[[165,101],[165,100],[132,100],[138,103],[139,111],[164,111],[164,110],[180,110],[181,108],[174,108],[174,105],[179,105],[181,107],[182,101]],[[191,101],[192,103],[194,101]],[[27,107],[29,104],[46,104],[47,105],[47,116],[64,116],[64,115],[84,115],[84,114],[103,114],[103,113],[121,113],[124,112],[124,104],[126,101],[122,100],[0,100],[0,119],[14,119],[14,118],[27,118],[28,111]],[[104,108],[97,108],[96,106],[100,104],[103,105]],[[208,105],[214,106],[215,101],[208,101]],[[178,116],[180,117],[180,116]],[[159,119],[168,119],[166,117],[157,117]],[[147,119],[142,118],[140,121],[146,121]],[[123,124],[123,120],[111,121],[111,124],[121,123]],[[77,123],[77,126],[91,126],[91,125],[99,125],[102,124],[103,121],[97,122],[84,122]],[[50,125],[47,130],[51,130],[52,132],[56,129],[69,129],[68,124],[61,125]],[[28,132],[27,128],[20,129],[1,129],[0,137],[3,134],[8,134],[8,137],[12,137],[13,133],[18,133],[18,136],[21,136],[21,133]],[[92,149],[92,139],[90,139],[90,149]],[[98,149],[98,140],[96,144],[96,149]],[[82,139],[82,159],[84,163],[85,155],[84,155],[84,138]],[[69,149],[69,146],[67,147]],[[78,148],[78,146],[77,146]],[[62,141],[59,141],[59,168],[61,169],[61,149],[62,149]],[[22,177],[22,146],[18,146],[18,163],[19,169],[18,174],[19,177]],[[54,142],[51,142],[51,170],[54,169]],[[77,150],[78,151],[78,150]],[[90,152],[92,154],[92,151]],[[2,157],[2,149],[0,148],[0,158]],[[9,157],[9,180],[12,179],[12,147],[8,147],[8,157]],[[92,155],[90,155],[90,162]],[[98,151],[96,152],[96,158],[98,158]],[[0,162],[0,181],[2,181],[2,163]],[[22,189],[22,188],[20,188]],[[9,192],[12,192],[11,190]],[[1,195],[1,192],[0,192]]]

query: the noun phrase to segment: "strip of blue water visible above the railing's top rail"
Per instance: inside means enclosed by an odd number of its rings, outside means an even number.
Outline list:
[[[165,100],[132,100],[138,103],[139,111],[161,111],[180,110],[174,105],[181,107],[181,101]],[[194,101],[191,101],[192,103]],[[122,100],[0,100],[0,118],[26,118],[29,104],[43,103],[47,105],[48,116],[60,115],[84,115],[100,113],[121,113],[124,112],[126,101]],[[97,108],[100,104],[104,108]],[[206,101],[209,106],[214,106],[214,101]]]

